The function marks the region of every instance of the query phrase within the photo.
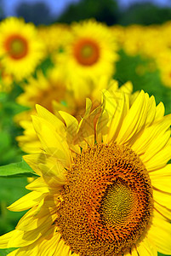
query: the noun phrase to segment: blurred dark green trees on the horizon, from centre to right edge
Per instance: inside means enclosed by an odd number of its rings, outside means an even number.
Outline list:
[[[71,23],[72,21],[94,18],[111,26],[121,24],[162,24],[170,20],[171,9],[160,8],[152,3],[134,3],[128,9],[118,9],[118,1],[114,0],[81,0],[72,3],[66,11],[60,15],[58,22]]]

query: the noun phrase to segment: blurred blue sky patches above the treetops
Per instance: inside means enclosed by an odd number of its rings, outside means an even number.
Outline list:
[[[14,8],[18,3],[47,3],[52,15],[60,15],[70,3],[77,3],[80,0],[2,0],[4,13],[6,16],[14,15]],[[95,1],[95,0],[94,0]],[[97,0],[100,1],[100,0]],[[121,8],[127,8],[129,4],[136,2],[149,2],[149,0],[117,0]],[[171,0],[150,0],[151,3],[157,3],[162,6],[171,6]]]

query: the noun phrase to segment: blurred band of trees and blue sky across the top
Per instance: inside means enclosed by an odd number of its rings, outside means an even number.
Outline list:
[[[36,25],[94,17],[107,25],[161,24],[171,18],[169,0],[10,0],[0,1],[0,19],[24,17]]]

